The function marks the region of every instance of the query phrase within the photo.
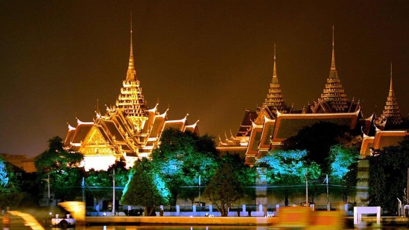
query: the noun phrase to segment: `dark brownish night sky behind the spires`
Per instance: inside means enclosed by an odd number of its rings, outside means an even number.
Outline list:
[[[133,11],[138,77],[149,106],[187,112],[202,134],[235,132],[267,93],[274,43],[287,104],[322,93],[335,59],[347,96],[383,109],[390,61],[409,111],[408,1],[1,1],[0,152],[34,156],[66,122],[115,103]]]

